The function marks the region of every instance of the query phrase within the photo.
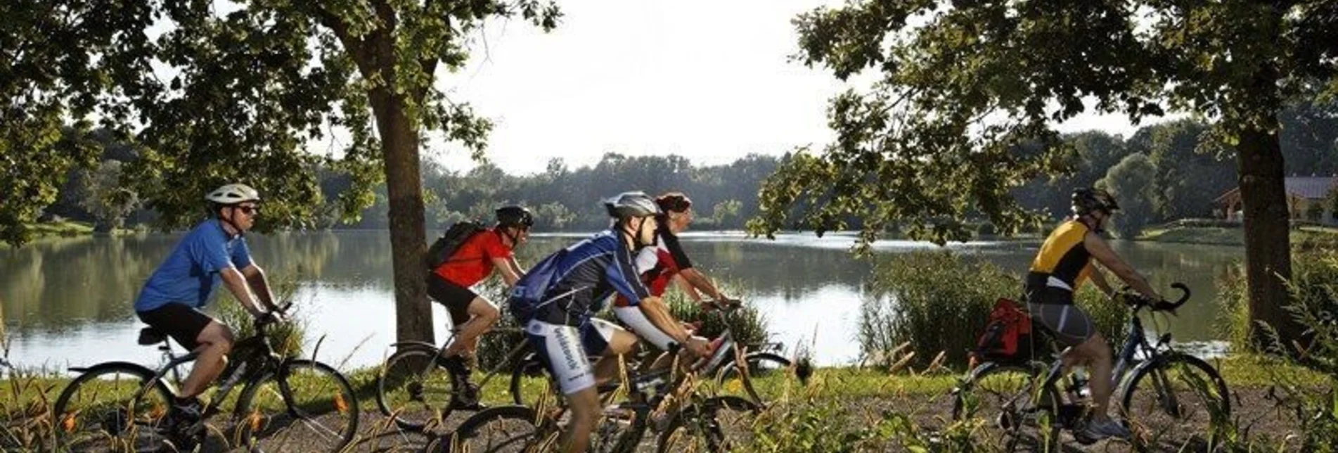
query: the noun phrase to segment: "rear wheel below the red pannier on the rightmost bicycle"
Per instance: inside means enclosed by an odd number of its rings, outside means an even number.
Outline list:
[[[1057,452],[1060,395],[1053,385],[1037,390],[1044,378],[1032,366],[981,363],[953,391],[953,419],[981,419],[981,436],[989,445]]]

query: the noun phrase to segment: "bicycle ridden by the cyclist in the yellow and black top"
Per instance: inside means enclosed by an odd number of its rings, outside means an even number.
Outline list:
[[[1111,374],[1112,389],[1116,389],[1112,399],[1119,401],[1120,415],[1133,433],[1131,442],[1137,450],[1153,448],[1171,432],[1210,432],[1231,413],[1227,383],[1216,369],[1176,351],[1171,332],[1157,336],[1155,344],[1148,342],[1140,312],[1147,308],[1153,314],[1173,314],[1189,299],[1188,287],[1181,283],[1172,287],[1181,291],[1180,299],[1173,303],[1147,300],[1128,288],[1121,291],[1121,298],[1133,312]],[[1041,331],[1045,343],[1054,348],[1049,332],[1044,328],[1033,331]],[[1066,379],[1064,393],[1058,391],[1061,378]],[[1084,378],[1065,373],[1060,354],[1048,367],[1040,362],[983,362],[953,390],[953,419],[990,415],[993,419],[986,419],[986,428],[1001,430],[1005,437],[1001,441],[1010,450],[1030,444],[1032,449],[1054,452],[1060,445],[1061,428],[1073,433],[1080,444],[1092,444],[1094,440],[1082,434],[1088,406],[1085,386]],[[1168,426],[1157,428],[1159,424]]]

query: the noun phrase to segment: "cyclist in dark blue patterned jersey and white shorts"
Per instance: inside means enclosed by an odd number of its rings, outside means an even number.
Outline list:
[[[605,201],[613,228],[545,257],[516,281],[508,300],[511,315],[558,382],[571,407],[565,450],[585,452],[599,415],[597,382],[613,378],[617,355],[626,354],[637,336],[593,318],[613,292],[632,304],[664,307],[636,271],[637,251],[656,243],[656,201],[626,192]],[[709,344],[692,336],[668,311],[648,314],[652,323],[697,355]],[[593,367],[590,355],[599,355]]]

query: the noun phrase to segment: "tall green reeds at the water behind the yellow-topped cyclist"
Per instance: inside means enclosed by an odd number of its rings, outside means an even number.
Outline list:
[[[900,344],[927,365],[939,352],[962,366],[999,298],[1020,300],[1021,279],[994,264],[951,251],[898,253],[880,259],[860,308],[859,344],[866,362],[887,366]],[[1020,300],[1021,302],[1021,300]],[[1088,285],[1076,303],[1111,344],[1119,344],[1129,311]],[[1037,344],[1044,347],[1044,344]]]

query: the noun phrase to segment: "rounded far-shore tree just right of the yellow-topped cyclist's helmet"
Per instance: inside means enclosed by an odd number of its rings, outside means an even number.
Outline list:
[[[1115,216],[1113,226],[1121,239],[1135,239],[1143,235],[1143,226],[1152,221],[1153,178],[1157,169],[1144,154],[1129,154],[1111,168],[1097,186],[1111,190],[1120,201],[1120,213]]]

